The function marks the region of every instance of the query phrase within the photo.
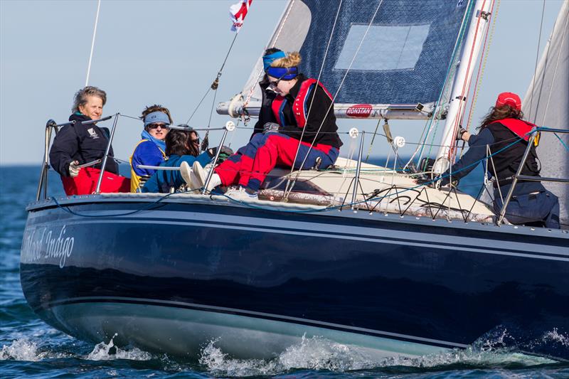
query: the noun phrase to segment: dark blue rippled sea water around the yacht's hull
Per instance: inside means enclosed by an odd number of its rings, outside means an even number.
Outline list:
[[[0,378],[569,378],[569,363],[514,351],[507,330],[497,329],[464,350],[418,358],[373,361],[356,348],[324,338],[303,338],[269,361],[228,356],[211,341],[198,361],[183,361],[114,341],[86,343],[43,323],[24,299],[20,248],[26,204],[33,201],[39,167],[0,166]],[[476,196],[479,175],[461,183]],[[63,194],[53,171],[49,195]],[[535,343],[569,345],[549,331]]]

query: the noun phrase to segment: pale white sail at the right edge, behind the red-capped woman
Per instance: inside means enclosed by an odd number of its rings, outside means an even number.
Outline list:
[[[528,121],[541,127],[569,129],[568,1],[563,2],[522,109]],[[569,178],[569,134],[558,134],[558,137],[552,133],[541,134],[538,146],[541,176]],[[561,223],[569,225],[569,186],[552,182],[543,182],[543,185],[558,196]]]

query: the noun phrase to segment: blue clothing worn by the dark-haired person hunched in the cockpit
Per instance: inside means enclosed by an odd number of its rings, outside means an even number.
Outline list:
[[[206,166],[211,161],[211,156],[207,152],[203,152],[198,156],[193,155],[176,155],[172,154],[169,159],[162,162],[160,166],[166,167],[179,167],[182,162],[188,162],[191,166],[193,162],[198,161],[201,166]],[[142,187],[142,192],[161,192],[169,193],[170,188],[178,188],[184,184],[184,178],[182,178],[180,171],[166,171],[158,170],[156,171],[144,184]]]

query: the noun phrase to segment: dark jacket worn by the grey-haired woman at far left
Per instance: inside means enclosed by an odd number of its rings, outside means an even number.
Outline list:
[[[86,164],[95,159],[102,159],[105,155],[109,143],[109,130],[97,127],[95,124],[80,123],[89,120],[90,117],[83,114],[71,114],[69,121],[75,121],[75,124],[61,128],[55,136],[49,151],[49,161],[61,176],[69,176],[69,164],[72,161]],[[112,146],[109,154],[114,156]],[[92,167],[100,169],[101,164]],[[109,158],[105,171],[119,174],[119,165],[114,159]]]

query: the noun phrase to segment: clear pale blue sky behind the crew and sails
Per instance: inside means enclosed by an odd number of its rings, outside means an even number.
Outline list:
[[[144,105],[159,103],[169,107],[174,122],[186,122],[233,38],[228,8],[235,2],[103,0],[90,84],[107,91],[105,114],[139,116]],[[216,102],[240,92],[285,4],[253,1]],[[546,1],[541,48],[560,4]],[[542,6],[541,0],[500,1],[474,120],[488,110],[497,93],[525,94],[536,62]],[[0,0],[0,164],[41,162],[46,120],[65,122],[73,94],[85,84],[96,9],[96,0]],[[211,95],[206,99],[193,126],[207,124],[212,100]],[[214,111],[212,127],[227,119]],[[410,142],[418,140],[423,125],[397,120],[390,124],[393,134]],[[343,120],[340,126],[373,129],[375,122]],[[128,159],[141,127],[136,120],[119,119],[113,144],[118,158]],[[231,137],[232,147],[248,137],[248,132]],[[218,142],[218,134],[211,142]]]

